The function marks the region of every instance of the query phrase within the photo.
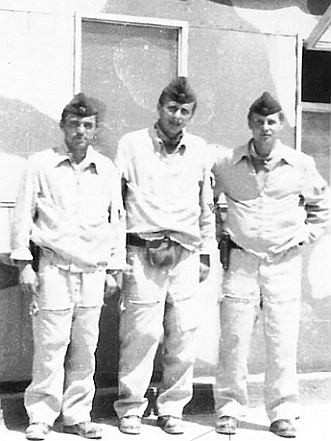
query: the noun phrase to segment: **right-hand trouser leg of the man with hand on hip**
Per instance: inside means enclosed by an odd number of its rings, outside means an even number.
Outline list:
[[[261,267],[267,368],[265,404],[271,421],[298,416],[297,343],[302,258],[291,249]]]

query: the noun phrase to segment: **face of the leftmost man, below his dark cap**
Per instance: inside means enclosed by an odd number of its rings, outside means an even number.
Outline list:
[[[77,163],[81,162],[86,156],[88,146],[93,144],[95,138],[96,116],[80,117],[69,113],[61,123],[61,128],[69,152]]]

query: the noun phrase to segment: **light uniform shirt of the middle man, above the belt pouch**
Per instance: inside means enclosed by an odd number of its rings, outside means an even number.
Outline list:
[[[215,242],[206,142],[184,133],[168,154],[155,129],[127,133],[116,163],[127,182],[127,231],[144,238],[167,234],[183,247],[210,253]]]

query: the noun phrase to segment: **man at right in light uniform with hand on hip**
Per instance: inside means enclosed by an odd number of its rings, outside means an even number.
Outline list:
[[[236,433],[244,415],[247,357],[261,306],[270,431],[296,436],[301,250],[329,222],[329,192],[313,159],[279,140],[283,120],[280,104],[263,93],[248,113],[252,139],[220,155],[213,167],[230,236],[215,386],[216,431],[223,434]]]

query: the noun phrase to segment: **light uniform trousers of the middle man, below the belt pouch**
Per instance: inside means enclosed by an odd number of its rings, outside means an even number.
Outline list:
[[[179,261],[152,266],[146,249],[128,247],[132,274],[124,277],[120,311],[119,418],[143,416],[145,393],[162,340],[163,378],[156,401],[159,416],[181,418],[192,398],[196,330],[201,315],[199,254],[176,247]]]

